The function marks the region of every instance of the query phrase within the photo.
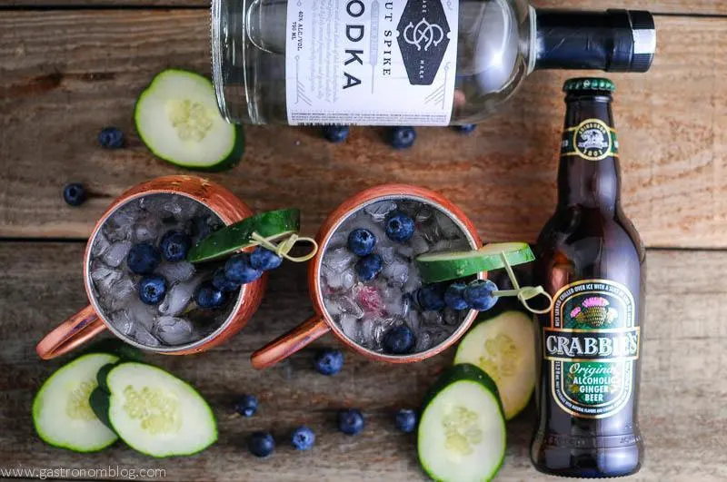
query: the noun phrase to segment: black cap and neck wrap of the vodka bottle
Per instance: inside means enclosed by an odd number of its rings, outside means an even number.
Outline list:
[[[538,10],[536,67],[646,72],[656,51],[653,16],[641,10]]]

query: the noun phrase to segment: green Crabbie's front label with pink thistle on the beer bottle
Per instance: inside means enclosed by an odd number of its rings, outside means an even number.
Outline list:
[[[553,297],[543,328],[543,359],[553,399],[581,418],[606,418],[632,397],[640,330],[631,291],[609,280],[581,280]]]

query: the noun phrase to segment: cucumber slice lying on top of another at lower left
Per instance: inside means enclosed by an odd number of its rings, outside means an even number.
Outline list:
[[[152,457],[188,456],[217,440],[212,408],[163,369],[125,361],[108,371],[105,387],[108,420],[134,450]]]

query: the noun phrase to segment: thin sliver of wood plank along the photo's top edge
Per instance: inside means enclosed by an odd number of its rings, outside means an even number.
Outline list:
[[[170,7],[204,7],[209,0],[0,0],[3,6],[170,6]],[[533,0],[533,4],[543,8],[632,8],[635,10],[650,10],[661,14],[684,15],[724,15],[727,14],[727,5],[721,0],[610,0],[604,4],[598,0],[573,0],[563,5],[560,0]]]

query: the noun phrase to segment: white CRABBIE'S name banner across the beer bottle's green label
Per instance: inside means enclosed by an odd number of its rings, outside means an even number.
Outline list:
[[[639,328],[612,331],[543,330],[545,359],[624,359],[639,357]]]

